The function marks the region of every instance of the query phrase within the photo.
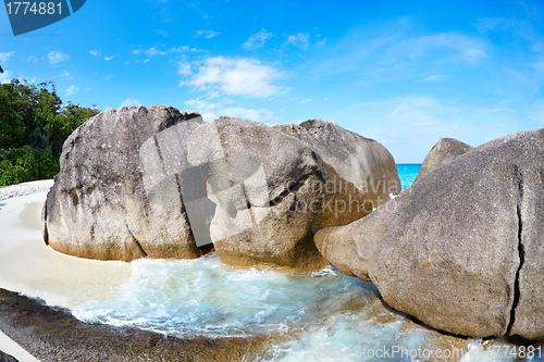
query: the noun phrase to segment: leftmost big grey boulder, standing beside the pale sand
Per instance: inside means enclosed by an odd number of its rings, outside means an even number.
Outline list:
[[[168,160],[186,162],[186,138],[202,123],[197,113],[163,105],[108,110],[85,122],[62,149],[42,213],[46,244],[124,261],[208,251],[195,242]]]

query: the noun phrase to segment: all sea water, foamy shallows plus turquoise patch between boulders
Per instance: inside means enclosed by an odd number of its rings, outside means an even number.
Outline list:
[[[406,188],[420,164],[397,167]],[[132,276],[116,287],[114,298],[89,300],[73,308],[74,315],[86,322],[131,325],[180,337],[293,337],[272,346],[257,361],[529,360],[503,355],[514,346],[502,340],[487,350],[481,339],[461,340],[469,351],[459,352],[459,339],[411,322],[388,309],[372,283],[331,266],[304,276],[235,269],[210,254],[196,260],[140,259],[131,263],[131,270]],[[418,350],[418,355],[409,354]],[[381,358],[386,351],[397,354]],[[406,353],[399,354],[401,351]],[[441,351],[450,358],[428,358],[421,351]]]

